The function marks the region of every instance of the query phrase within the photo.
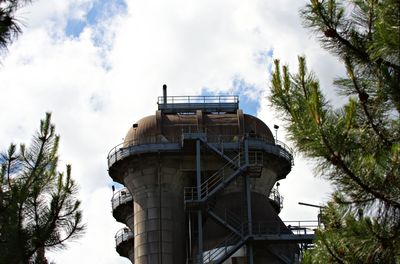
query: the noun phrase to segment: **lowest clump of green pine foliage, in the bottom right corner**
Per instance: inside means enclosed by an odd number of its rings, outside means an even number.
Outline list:
[[[400,241],[377,218],[335,202],[322,217],[324,229],[317,231],[315,248],[303,263],[398,263]]]

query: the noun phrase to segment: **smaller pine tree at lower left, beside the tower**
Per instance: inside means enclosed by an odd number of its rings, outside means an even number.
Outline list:
[[[84,232],[71,166],[57,170],[58,143],[47,113],[29,148],[11,144],[0,157],[0,263],[47,263],[47,249]]]

